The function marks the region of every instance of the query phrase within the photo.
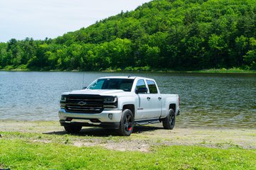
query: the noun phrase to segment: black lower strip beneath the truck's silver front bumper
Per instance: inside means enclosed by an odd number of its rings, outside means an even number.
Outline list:
[[[79,126],[89,126],[89,127],[101,127],[106,129],[119,129],[120,123],[100,123],[100,125],[95,125],[91,123],[77,123],[77,122],[67,122],[65,120],[60,120],[60,125],[79,125]]]

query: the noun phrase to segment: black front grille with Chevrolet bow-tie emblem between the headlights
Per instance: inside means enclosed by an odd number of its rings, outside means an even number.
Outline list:
[[[101,113],[103,96],[73,94],[67,96],[65,110],[75,113]]]

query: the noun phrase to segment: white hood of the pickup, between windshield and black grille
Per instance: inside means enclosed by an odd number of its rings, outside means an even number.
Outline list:
[[[100,95],[100,96],[105,96],[105,95],[117,95],[124,93],[122,90],[91,90],[91,89],[85,89],[85,90],[78,90],[78,91],[71,91],[71,92],[66,92],[64,95],[68,94],[95,94],[95,95]]]

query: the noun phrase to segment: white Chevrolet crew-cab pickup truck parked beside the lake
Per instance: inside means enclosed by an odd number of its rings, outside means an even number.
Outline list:
[[[134,125],[160,122],[172,130],[179,98],[160,94],[154,79],[102,77],[85,89],[62,94],[58,115],[60,125],[70,133],[80,132],[82,126],[97,126],[129,136]]]

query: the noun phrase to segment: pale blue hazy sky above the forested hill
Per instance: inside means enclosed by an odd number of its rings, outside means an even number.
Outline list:
[[[56,38],[150,0],[0,0],[0,42]]]

